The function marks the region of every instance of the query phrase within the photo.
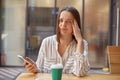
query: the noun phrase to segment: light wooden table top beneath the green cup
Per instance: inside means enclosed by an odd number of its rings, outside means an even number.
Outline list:
[[[16,80],[52,80],[52,78],[51,74],[46,73],[21,73]],[[88,74],[85,77],[63,74],[62,80],[120,80],[120,74]]]

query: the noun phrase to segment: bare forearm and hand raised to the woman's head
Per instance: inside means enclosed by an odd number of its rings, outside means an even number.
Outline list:
[[[77,40],[77,51],[80,52],[80,53],[83,53],[84,51],[84,44],[83,44],[83,38],[82,38],[82,35],[81,35],[81,30],[80,28],[78,27],[78,24],[76,22],[76,20],[74,20],[72,22],[72,27],[73,27],[73,34]]]

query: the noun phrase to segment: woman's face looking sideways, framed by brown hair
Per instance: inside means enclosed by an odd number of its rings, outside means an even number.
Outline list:
[[[59,17],[59,30],[61,35],[72,35],[73,15],[68,11],[62,11]]]

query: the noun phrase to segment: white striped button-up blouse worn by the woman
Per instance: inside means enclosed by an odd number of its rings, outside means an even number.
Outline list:
[[[63,73],[73,73],[76,76],[85,76],[89,70],[88,43],[84,42],[84,53],[76,52],[76,41],[73,40],[61,57],[58,53],[56,35],[45,38],[42,41],[36,61],[39,72],[50,72],[52,64],[63,64]]]

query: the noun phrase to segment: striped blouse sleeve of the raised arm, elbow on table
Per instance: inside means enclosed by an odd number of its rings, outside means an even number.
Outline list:
[[[84,40],[84,53],[74,53],[73,74],[76,76],[85,76],[90,69],[87,54],[88,43]]]

